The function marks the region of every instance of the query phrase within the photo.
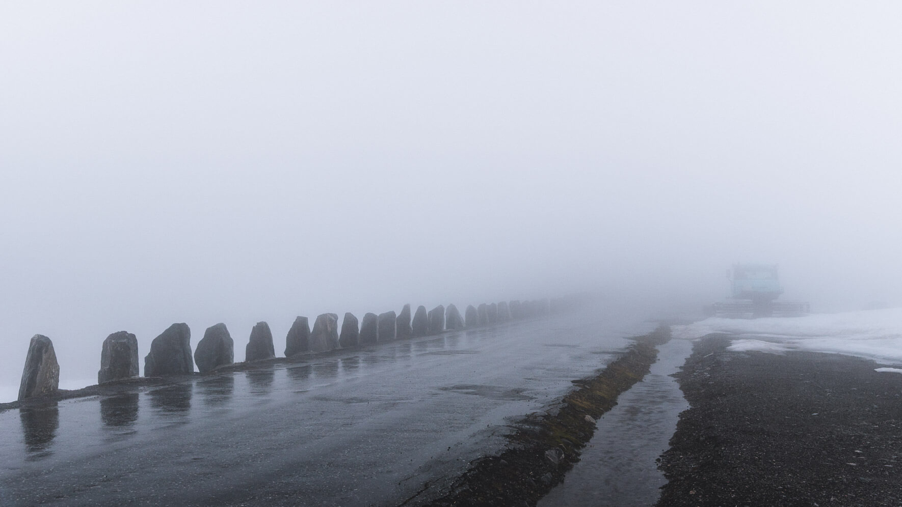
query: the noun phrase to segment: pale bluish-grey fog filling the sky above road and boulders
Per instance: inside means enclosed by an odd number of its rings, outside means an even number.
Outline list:
[[[0,6],[0,385],[296,315],[600,292],[649,315],[780,266],[902,304],[895,2]],[[143,362],[143,359],[142,359]]]

